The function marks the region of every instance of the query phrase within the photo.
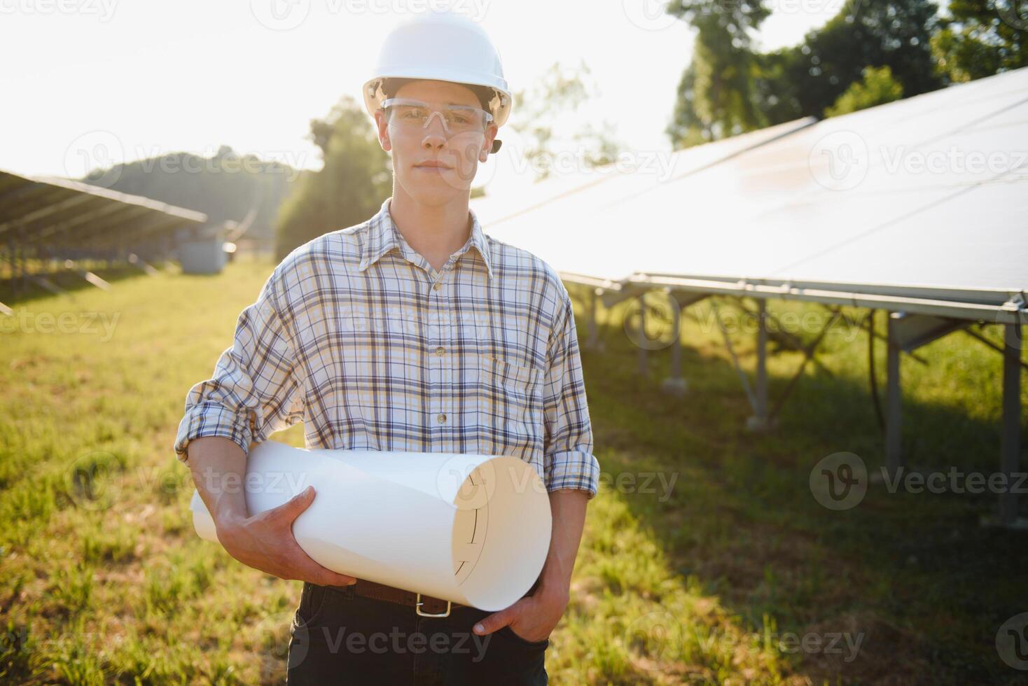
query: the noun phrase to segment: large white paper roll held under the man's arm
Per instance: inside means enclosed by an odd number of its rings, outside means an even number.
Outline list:
[[[221,477],[224,477],[223,474]],[[231,488],[219,474],[209,488]],[[513,605],[546,562],[552,520],[546,486],[511,456],[303,450],[252,446],[242,484],[251,516],[307,486],[314,502],[293,536],[318,564],[481,610]],[[200,538],[218,541],[199,493],[190,509]]]

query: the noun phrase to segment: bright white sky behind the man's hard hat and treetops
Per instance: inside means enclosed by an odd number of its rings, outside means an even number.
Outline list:
[[[798,42],[841,3],[766,1],[765,48]],[[0,168],[77,177],[222,144],[319,168],[309,120],[359,98],[398,18],[441,3],[481,23],[512,89],[585,61],[599,97],[584,116],[612,122],[630,149],[669,149],[693,38],[659,0],[0,0]]]

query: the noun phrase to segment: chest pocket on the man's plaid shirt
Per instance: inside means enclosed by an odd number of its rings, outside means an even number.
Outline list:
[[[479,355],[478,373],[479,454],[542,456],[542,370]]]

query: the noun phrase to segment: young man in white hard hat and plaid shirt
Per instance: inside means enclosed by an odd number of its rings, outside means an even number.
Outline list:
[[[175,449],[225,549],[304,581],[291,683],[546,683],[599,468],[566,290],[547,263],[483,233],[469,209],[477,164],[499,148],[510,112],[507,82],[479,27],[433,13],[390,35],[364,94],[392,154],[393,196],[276,267],[214,378],[189,391]],[[300,420],[308,448],[533,464],[553,513],[536,584],[485,612],[357,580],[293,538],[313,489],[249,517],[242,493],[206,483],[208,470],[245,473],[251,443]]]

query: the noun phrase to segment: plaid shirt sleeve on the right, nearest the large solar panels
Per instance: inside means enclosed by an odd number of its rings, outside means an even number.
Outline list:
[[[548,492],[586,491],[591,500],[599,487],[599,463],[592,454],[592,425],[586,403],[575,312],[566,290],[554,317],[543,409],[546,421],[544,481]]]

